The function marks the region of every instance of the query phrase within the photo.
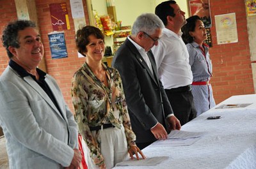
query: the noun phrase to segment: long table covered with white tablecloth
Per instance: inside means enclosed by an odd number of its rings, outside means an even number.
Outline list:
[[[250,105],[220,108],[239,104]],[[218,115],[220,119],[207,120],[209,116]],[[256,94],[232,96],[182,126],[181,130],[204,135],[189,146],[152,144],[143,149],[147,158],[169,157],[156,166],[116,166],[115,169],[256,168]]]

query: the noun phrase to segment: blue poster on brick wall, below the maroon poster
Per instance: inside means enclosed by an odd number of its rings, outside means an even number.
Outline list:
[[[52,59],[68,57],[65,36],[63,32],[48,34]]]

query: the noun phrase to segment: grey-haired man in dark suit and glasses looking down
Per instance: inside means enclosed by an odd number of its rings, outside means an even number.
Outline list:
[[[156,62],[150,50],[157,45],[163,27],[156,15],[140,15],[132,26],[131,36],[118,48],[112,63],[122,78],[132,129],[140,149],[167,138],[166,122],[169,129],[180,129],[180,122],[173,115],[157,77]]]

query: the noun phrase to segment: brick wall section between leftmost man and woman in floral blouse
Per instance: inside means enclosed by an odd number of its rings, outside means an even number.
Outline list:
[[[71,78],[74,75],[75,71],[81,67],[84,62],[84,58],[77,57],[77,50],[75,44],[75,28],[74,22],[72,19],[70,1],[69,0],[36,0],[36,10],[38,15],[38,24],[40,26],[40,33],[42,36],[42,41],[45,48],[45,62],[47,66],[47,73],[54,77],[58,84],[61,87],[63,96],[70,107],[70,110],[73,111],[70,87],[71,87]],[[51,50],[49,47],[48,33],[53,31],[51,25],[51,13],[49,9],[49,4],[52,3],[67,3],[68,9],[68,18],[70,21],[70,30],[64,30],[65,41],[67,45],[68,57],[62,59],[51,59]],[[86,24],[89,24],[86,1],[83,0],[84,12],[86,16]]]

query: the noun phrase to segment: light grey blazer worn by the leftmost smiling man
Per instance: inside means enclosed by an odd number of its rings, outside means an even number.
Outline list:
[[[63,168],[77,148],[77,126],[54,78],[46,75],[61,112],[31,77],[10,66],[0,77],[0,125],[10,169]]]

